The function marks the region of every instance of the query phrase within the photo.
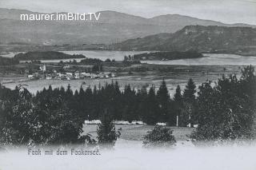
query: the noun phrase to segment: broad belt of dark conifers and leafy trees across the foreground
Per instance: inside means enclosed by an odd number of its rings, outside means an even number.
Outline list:
[[[147,125],[198,125],[197,140],[253,138],[255,132],[256,79],[254,68],[242,76],[222,77],[216,85],[206,81],[198,89],[192,78],[182,90],[178,85],[170,98],[166,81],[159,89],[120,89],[118,81],[72,91],[42,89],[32,95],[24,85],[16,89],[0,86],[0,142],[20,144],[82,143],[85,120],[143,121]],[[178,117],[178,119],[177,119]],[[177,122],[178,121],[178,122]],[[110,121],[111,122],[111,121]]]

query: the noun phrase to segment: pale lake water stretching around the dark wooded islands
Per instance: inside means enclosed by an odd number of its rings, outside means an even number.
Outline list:
[[[149,53],[149,51],[105,51],[105,50],[80,50],[80,51],[61,51],[62,53],[82,54],[89,58],[98,58],[105,61],[107,58],[115,61],[122,61],[126,55],[134,55],[137,53]],[[14,57],[15,53],[3,55],[4,57]],[[256,65],[256,57],[254,56],[241,56],[236,54],[226,53],[204,53],[204,57],[200,58],[187,58],[180,60],[170,61],[142,61],[142,63],[155,64],[155,65]],[[59,61],[81,61],[83,58],[70,58],[62,60],[42,60],[43,63],[59,62]]]

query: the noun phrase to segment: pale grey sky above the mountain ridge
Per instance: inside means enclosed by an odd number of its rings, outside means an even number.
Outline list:
[[[0,7],[45,13],[114,10],[145,18],[181,14],[256,25],[256,0],[0,0]]]

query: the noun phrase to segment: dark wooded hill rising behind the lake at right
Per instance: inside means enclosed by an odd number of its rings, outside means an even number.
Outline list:
[[[186,26],[174,34],[155,34],[112,45],[120,50],[160,50],[214,53],[256,52],[256,29],[251,27]]]

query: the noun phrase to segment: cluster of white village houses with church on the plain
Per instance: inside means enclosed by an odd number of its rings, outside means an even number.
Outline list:
[[[47,69],[46,65],[40,65],[38,71],[34,71],[31,73],[26,70],[25,74],[30,80],[38,80],[38,79],[56,79],[56,80],[78,80],[84,78],[110,78],[115,77],[114,73],[111,72],[85,72],[81,70],[72,70],[70,69],[70,65],[65,65],[62,68],[62,71],[56,69]]]

